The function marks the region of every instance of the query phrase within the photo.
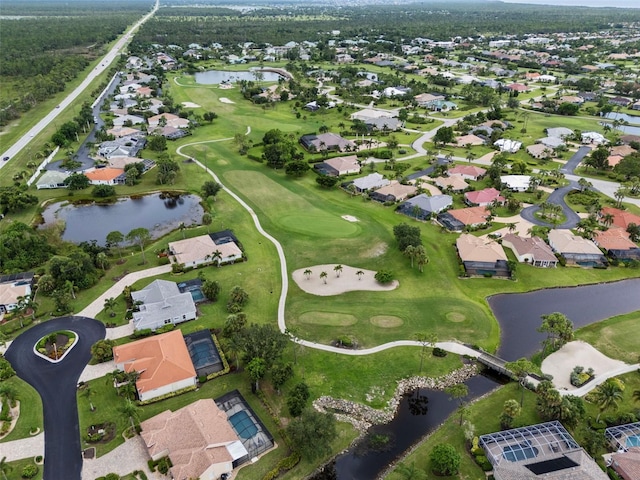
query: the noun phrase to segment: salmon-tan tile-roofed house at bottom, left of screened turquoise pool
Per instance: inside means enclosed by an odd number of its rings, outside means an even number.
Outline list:
[[[140,428],[151,458],[169,457],[175,480],[223,478],[231,474],[235,461],[248,455],[227,414],[211,398],[175,412],[165,410],[141,422]]]

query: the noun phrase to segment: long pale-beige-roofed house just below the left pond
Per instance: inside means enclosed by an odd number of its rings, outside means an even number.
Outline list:
[[[197,267],[216,263],[218,266],[242,259],[242,250],[233,242],[216,244],[211,235],[186,238],[169,242],[169,253],[173,263],[185,267]]]

